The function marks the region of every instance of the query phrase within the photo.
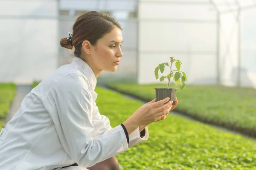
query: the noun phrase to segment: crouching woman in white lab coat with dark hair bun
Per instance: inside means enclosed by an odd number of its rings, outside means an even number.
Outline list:
[[[147,125],[166,118],[172,101],[152,100],[111,127],[99,113],[96,78],[116,71],[123,56],[122,28],[90,11],[77,18],[61,46],[75,59],[44,79],[23,99],[0,134],[0,170],[118,170],[116,155],[148,139]],[[177,100],[177,99],[176,99]]]

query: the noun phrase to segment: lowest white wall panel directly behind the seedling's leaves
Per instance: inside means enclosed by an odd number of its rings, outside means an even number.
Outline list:
[[[139,57],[140,84],[160,83],[156,80],[154,69],[159,63],[169,62],[169,57],[175,57],[182,62],[180,71],[186,73],[187,84],[211,84],[216,82],[216,57],[213,55],[179,55],[179,54],[143,54]],[[163,74],[166,76],[170,69],[166,68]],[[173,80],[172,80],[173,82]],[[165,83],[165,82],[164,82]]]

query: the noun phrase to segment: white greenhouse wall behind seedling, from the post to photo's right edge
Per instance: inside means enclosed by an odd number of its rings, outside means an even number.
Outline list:
[[[228,10],[228,7],[222,8],[224,5],[218,8]],[[159,63],[169,62],[169,57],[175,57],[183,63],[181,71],[187,74],[187,84],[217,83],[219,65],[220,83],[238,85],[239,25],[236,12],[220,15],[219,40],[217,12],[205,0],[198,3],[139,0],[138,14],[138,83],[160,83],[155,79],[154,68]],[[251,8],[241,11],[240,18],[240,83],[243,87],[253,88],[256,88],[255,16],[256,8]],[[160,76],[167,74],[169,70]]]

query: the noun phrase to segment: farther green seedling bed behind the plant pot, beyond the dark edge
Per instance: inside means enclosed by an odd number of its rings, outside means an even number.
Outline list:
[[[151,101],[155,98],[154,88],[166,85],[112,83],[107,86],[139,99]],[[175,111],[202,122],[256,137],[256,89],[186,85],[182,91],[177,90],[176,96],[179,104]]]

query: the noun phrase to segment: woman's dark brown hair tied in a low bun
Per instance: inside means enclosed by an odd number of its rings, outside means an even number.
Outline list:
[[[122,30],[119,23],[110,14],[89,11],[76,19],[73,25],[72,41],[66,37],[61,39],[60,44],[67,49],[73,49],[74,46],[74,55],[81,57],[81,47],[84,40],[88,40],[92,45],[96,45],[97,40],[108,34],[114,26]]]

